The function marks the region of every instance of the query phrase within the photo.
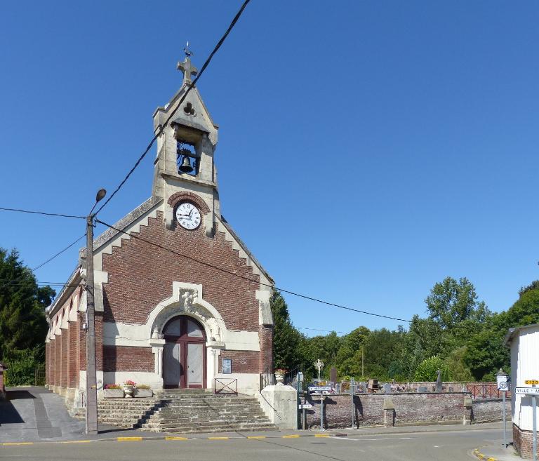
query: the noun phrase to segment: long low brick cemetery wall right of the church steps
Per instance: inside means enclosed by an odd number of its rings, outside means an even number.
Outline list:
[[[465,397],[469,396],[467,392],[356,394],[355,420],[359,426],[470,422],[472,408],[465,405]],[[313,406],[311,410],[307,410],[307,427],[320,427],[320,397],[307,396],[307,402]],[[393,407],[394,410],[387,409],[388,407]],[[350,394],[326,396],[324,416],[326,427],[350,427]]]

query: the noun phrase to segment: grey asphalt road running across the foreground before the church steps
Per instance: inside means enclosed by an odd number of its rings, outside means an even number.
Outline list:
[[[217,435],[217,434],[216,434]],[[422,461],[471,460],[471,450],[501,443],[499,429],[320,438],[44,442],[0,447],[0,460],[76,461]],[[475,458],[477,459],[477,458]]]

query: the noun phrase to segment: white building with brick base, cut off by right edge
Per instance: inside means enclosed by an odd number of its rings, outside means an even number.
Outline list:
[[[539,380],[539,323],[510,328],[505,344],[511,349],[511,389],[531,387],[529,381]],[[531,457],[532,398],[512,392],[513,444],[522,457]]]

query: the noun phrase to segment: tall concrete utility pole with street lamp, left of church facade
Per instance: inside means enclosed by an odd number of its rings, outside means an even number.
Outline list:
[[[107,191],[100,189],[86,218],[86,434],[98,434],[98,378],[95,370],[95,305],[93,300],[93,210]]]

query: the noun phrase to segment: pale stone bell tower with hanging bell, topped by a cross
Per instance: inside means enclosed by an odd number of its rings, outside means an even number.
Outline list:
[[[204,200],[209,210],[204,214],[204,229],[213,236],[216,216],[220,217],[217,170],[214,154],[218,141],[218,126],[204,105],[191,77],[197,68],[191,63],[192,53],[185,50],[185,60],[178,62],[183,73],[180,90],[164,107],[154,112],[154,133],[165,126],[157,138],[157,157],[154,161],[152,197],[162,199],[164,222],[168,229],[174,225],[176,197],[194,194]],[[187,98],[180,100],[192,87]]]

